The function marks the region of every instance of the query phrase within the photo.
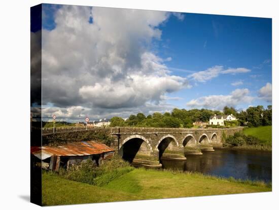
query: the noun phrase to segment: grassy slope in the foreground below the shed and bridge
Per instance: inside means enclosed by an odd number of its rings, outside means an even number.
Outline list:
[[[271,191],[264,184],[230,182],[201,174],[134,169],[96,187],[43,174],[43,204],[74,204]]]

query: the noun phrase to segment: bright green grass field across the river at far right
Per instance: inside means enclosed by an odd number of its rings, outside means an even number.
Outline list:
[[[261,139],[262,143],[271,146],[272,126],[260,126],[255,128],[247,128],[243,130],[244,134],[252,135]]]

